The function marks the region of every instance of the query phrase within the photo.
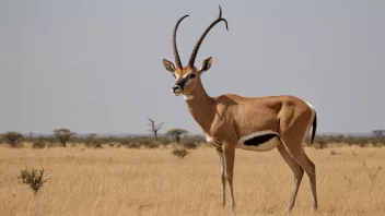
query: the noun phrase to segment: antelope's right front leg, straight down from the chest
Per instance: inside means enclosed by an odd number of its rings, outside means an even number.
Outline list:
[[[224,155],[224,167],[225,167],[225,178],[230,185],[231,194],[231,208],[235,209],[235,200],[234,200],[234,190],[233,190],[233,170],[234,170],[234,160],[235,160],[235,146],[230,145],[229,143],[223,144],[223,155]]]

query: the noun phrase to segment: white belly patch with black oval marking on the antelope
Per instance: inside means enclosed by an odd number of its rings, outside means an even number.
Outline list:
[[[273,131],[258,131],[241,137],[236,143],[236,147],[255,152],[267,152],[273,149],[279,144],[281,144],[281,140],[278,133]]]

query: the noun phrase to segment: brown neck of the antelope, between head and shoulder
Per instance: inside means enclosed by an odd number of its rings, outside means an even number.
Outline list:
[[[214,100],[206,93],[200,80],[197,81],[194,93],[185,95],[185,100],[192,118],[206,132],[209,132],[215,117]]]

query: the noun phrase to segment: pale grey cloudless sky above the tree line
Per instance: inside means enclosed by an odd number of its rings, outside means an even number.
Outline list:
[[[242,2],[242,3],[241,3]],[[289,94],[311,103],[318,132],[385,128],[385,1],[0,0],[0,133],[201,133],[162,59],[172,32],[210,96]]]

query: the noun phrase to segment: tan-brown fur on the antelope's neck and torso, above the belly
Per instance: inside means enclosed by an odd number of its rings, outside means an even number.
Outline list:
[[[209,136],[222,142],[236,143],[242,136],[264,130],[284,136],[293,127],[307,128],[312,123],[312,109],[294,96],[248,98],[225,94],[211,98],[200,80],[192,94],[194,98],[186,100],[192,118]],[[299,117],[307,121],[298,122]],[[229,130],[234,131],[231,136]]]

